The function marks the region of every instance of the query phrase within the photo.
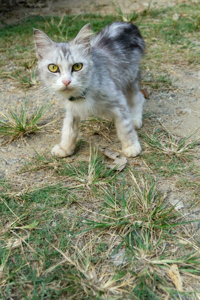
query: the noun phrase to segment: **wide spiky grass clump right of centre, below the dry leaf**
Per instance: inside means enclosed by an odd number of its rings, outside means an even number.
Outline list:
[[[94,222],[93,220],[87,222],[84,219],[84,223],[93,225],[88,230],[112,226],[128,228],[132,224],[159,229],[179,225],[175,220],[180,214],[174,213],[173,207],[167,207],[164,201],[166,194],[161,195],[157,190],[156,179],[152,176],[149,178],[139,176],[136,179],[133,173],[130,174],[133,183],[131,187],[126,187],[126,191],[124,186],[121,190],[113,187],[102,189],[103,218],[98,218]]]

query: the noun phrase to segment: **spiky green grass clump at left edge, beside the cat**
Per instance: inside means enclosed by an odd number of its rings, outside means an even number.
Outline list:
[[[41,124],[49,108],[50,104],[43,104],[41,107],[37,106],[30,113],[30,107],[27,107],[27,99],[25,97],[24,104],[20,104],[19,110],[16,105],[14,111],[9,110],[7,113],[0,111],[0,137],[3,139],[2,144],[16,141],[19,138],[22,139],[30,133],[41,133],[44,127],[50,124]]]

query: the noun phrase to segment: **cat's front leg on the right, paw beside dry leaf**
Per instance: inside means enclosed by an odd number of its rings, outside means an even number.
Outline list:
[[[135,157],[142,151],[137,133],[134,129],[131,115],[128,111],[120,110],[115,116],[115,126],[118,138],[122,144],[122,151],[128,157]]]

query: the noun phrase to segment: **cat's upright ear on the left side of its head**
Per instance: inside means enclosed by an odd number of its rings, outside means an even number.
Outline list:
[[[46,51],[54,45],[54,42],[39,29],[33,29],[33,36],[37,58],[43,58]]]

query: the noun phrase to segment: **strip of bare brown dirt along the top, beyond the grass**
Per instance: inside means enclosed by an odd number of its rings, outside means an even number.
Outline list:
[[[6,1],[5,1],[6,2]],[[179,3],[198,3],[198,0],[33,0],[22,1],[22,5],[15,5],[15,1],[7,1],[12,5],[0,4],[0,19],[4,24],[13,24],[24,18],[34,15],[55,15],[80,14],[80,13],[100,13],[102,15],[116,13],[117,6],[120,5],[123,13],[133,11],[139,13],[149,6],[154,9],[160,7],[174,6]]]

